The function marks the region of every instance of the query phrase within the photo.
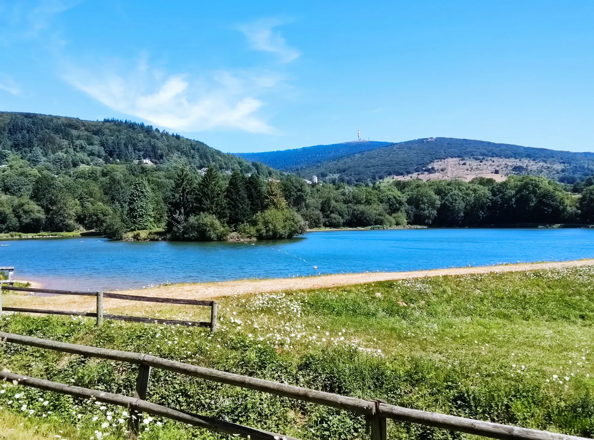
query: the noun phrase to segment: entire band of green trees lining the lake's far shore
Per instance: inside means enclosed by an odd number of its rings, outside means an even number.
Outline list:
[[[285,238],[305,227],[591,223],[594,181],[581,197],[538,176],[504,182],[407,179],[308,185],[240,167],[186,162],[78,166],[54,174],[13,154],[0,167],[0,232],[97,230],[111,238],[163,228],[170,239]],[[591,181],[591,182],[590,182]]]

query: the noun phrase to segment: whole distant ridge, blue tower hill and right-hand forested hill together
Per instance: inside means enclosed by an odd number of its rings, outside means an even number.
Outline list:
[[[525,158],[547,163],[560,163],[563,164],[560,181],[567,183],[573,183],[577,179],[594,173],[594,153],[572,153],[571,151],[523,147],[522,145],[441,137],[385,145],[378,144],[381,143],[369,143],[365,150],[356,148],[348,151],[340,150],[336,156],[333,156],[333,152],[328,150],[344,144],[315,145],[296,150],[255,153],[258,156],[250,157],[257,157],[257,160],[269,166],[298,172],[307,178],[312,175],[332,175],[337,176],[341,181],[349,182],[378,181],[386,176],[421,172],[429,163],[449,157]],[[248,159],[248,156],[242,155],[245,159]],[[272,160],[277,160],[276,166],[271,164]]]

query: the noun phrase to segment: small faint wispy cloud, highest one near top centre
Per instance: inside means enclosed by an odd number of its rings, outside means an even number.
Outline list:
[[[301,55],[299,50],[287,45],[286,40],[274,28],[284,24],[279,18],[261,18],[237,27],[248,39],[251,48],[276,53],[280,61],[293,61]]]

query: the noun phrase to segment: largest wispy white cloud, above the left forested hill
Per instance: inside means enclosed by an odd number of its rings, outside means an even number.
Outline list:
[[[181,131],[239,129],[252,133],[275,132],[260,116],[264,102],[257,97],[273,87],[274,75],[233,75],[217,72],[207,80],[189,75],[163,75],[146,61],[127,75],[70,68],[65,79],[106,106],[153,124]]]

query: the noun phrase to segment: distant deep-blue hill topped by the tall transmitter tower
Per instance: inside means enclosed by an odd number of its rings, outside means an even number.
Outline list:
[[[313,147],[295,148],[294,150],[265,151],[264,153],[238,153],[246,160],[261,162],[283,171],[294,171],[302,167],[311,167],[326,160],[336,160],[363,151],[374,150],[392,144],[378,141],[353,141],[340,144],[314,145]]]

